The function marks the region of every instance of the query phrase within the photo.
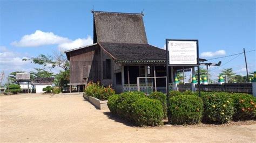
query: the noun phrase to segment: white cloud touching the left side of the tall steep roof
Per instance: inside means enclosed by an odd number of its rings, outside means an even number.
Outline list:
[[[62,44],[59,44],[58,48],[60,51],[66,51],[69,49],[90,45],[92,43],[93,43],[93,40],[92,40],[91,36],[87,35],[87,38],[84,38],[84,39],[78,38],[78,39],[70,41],[70,42],[64,42]]]

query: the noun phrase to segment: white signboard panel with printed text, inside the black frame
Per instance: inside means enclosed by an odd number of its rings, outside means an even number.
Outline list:
[[[170,65],[197,65],[197,41],[170,40]]]

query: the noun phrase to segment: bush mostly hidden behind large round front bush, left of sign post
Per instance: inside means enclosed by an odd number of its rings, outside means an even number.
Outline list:
[[[149,95],[149,98],[151,99],[157,99],[161,102],[162,106],[163,106],[163,111],[164,111],[164,118],[167,118],[167,99],[166,99],[166,95],[163,94],[163,92],[152,92]]]

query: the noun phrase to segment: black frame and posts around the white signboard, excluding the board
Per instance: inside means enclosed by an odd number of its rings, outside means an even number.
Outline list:
[[[169,41],[196,41],[197,42],[197,64],[169,64]],[[198,39],[165,39],[165,51],[166,51],[166,77],[167,77],[167,114],[170,115],[169,106],[170,106],[170,94],[169,94],[169,66],[191,66],[191,67],[198,67],[200,69],[200,62],[199,62],[199,43]],[[198,95],[200,97],[200,70],[198,71]],[[168,117],[168,123],[170,124],[170,118]]]

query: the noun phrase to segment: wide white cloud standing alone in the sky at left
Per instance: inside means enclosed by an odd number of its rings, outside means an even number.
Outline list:
[[[60,37],[52,32],[43,32],[37,30],[30,35],[24,35],[21,40],[14,41],[11,45],[16,47],[39,47],[44,45],[62,44],[71,40],[65,37]]]

